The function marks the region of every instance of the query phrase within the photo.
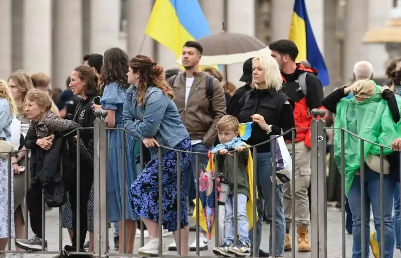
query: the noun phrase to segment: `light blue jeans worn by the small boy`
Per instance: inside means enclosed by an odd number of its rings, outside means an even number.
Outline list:
[[[242,243],[251,243],[249,239],[248,232],[249,232],[249,221],[247,216],[247,201],[248,197],[243,194],[239,193],[237,195],[237,207],[238,207],[238,235],[239,235],[239,242]],[[224,237],[224,242],[226,243],[233,243],[234,244],[234,196],[228,196],[225,208],[226,208],[226,218],[224,220],[224,228],[226,231],[226,235]]]

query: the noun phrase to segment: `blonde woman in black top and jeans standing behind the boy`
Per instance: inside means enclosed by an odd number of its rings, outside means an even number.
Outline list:
[[[252,133],[247,140],[250,145],[262,143],[270,139],[271,135],[280,135],[282,132],[295,127],[293,108],[294,102],[285,95],[282,88],[282,77],[276,60],[270,56],[253,59],[253,83],[255,88],[247,92],[241,102],[244,103],[239,114],[240,123],[251,122]],[[291,134],[284,136],[291,140]],[[276,212],[276,246],[272,246],[272,230],[270,230],[270,253],[273,256],[284,256],[285,216],[283,207],[283,185],[276,185],[276,207],[272,211],[272,153],[270,143],[257,147],[257,186],[259,191],[258,214],[256,224],[257,239],[250,238],[257,245],[257,252],[261,243],[262,220],[264,202],[267,204],[269,223],[272,223],[272,212]],[[258,253],[255,254],[258,256]]]

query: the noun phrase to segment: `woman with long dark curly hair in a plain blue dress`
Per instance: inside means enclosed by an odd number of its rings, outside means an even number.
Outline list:
[[[108,192],[107,210],[109,222],[117,222],[122,228],[122,198],[125,198],[125,235],[126,249],[123,250],[123,235],[119,234],[119,253],[133,253],[136,220],[138,216],[132,213],[130,206],[130,186],[136,179],[134,146],[137,144],[133,137],[125,134],[125,157],[122,156],[123,137],[123,104],[127,83],[129,58],[119,48],[111,48],[104,53],[101,75],[103,79],[103,95],[100,100],[101,109],[107,111],[107,127],[121,128],[121,130],[108,131],[109,148],[109,169],[108,169]],[[94,105],[94,109],[100,107]],[[125,182],[122,182],[122,162],[125,159]],[[122,185],[125,184],[125,192],[122,192]]]

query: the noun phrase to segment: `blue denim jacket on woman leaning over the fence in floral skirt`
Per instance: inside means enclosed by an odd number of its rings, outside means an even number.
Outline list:
[[[123,110],[124,128],[134,138],[143,141],[155,138],[163,146],[173,148],[189,137],[174,102],[161,89],[150,86],[145,93],[142,106],[138,106],[136,87],[127,90]],[[157,148],[150,148],[152,159],[157,157]],[[163,150],[163,153],[168,150]]]

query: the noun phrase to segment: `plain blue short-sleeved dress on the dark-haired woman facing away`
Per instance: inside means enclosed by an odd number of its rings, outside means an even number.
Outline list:
[[[122,111],[126,95],[126,90],[117,83],[110,83],[104,87],[103,96],[100,100],[102,109],[115,111],[114,128],[123,129]],[[108,190],[107,190],[107,210],[109,222],[122,220],[122,198],[125,198],[126,211],[125,218],[138,220],[138,216],[132,212],[130,202],[130,185],[136,179],[136,166],[134,157],[134,147],[138,144],[133,137],[125,133],[125,157],[122,157],[122,130],[109,130],[109,169]],[[122,182],[122,161],[125,158],[125,182]],[[122,193],[122,184],[125,183],[125,193]]]

